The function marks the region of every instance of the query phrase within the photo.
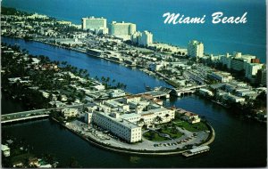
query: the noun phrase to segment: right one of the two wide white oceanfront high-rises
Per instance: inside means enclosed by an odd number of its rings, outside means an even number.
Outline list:
[[[113,36],[131,36],[136,32],[136,24],[113,21],[109,29]]]

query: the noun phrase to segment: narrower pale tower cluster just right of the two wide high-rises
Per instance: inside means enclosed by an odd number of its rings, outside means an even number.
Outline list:
[[[153,34],[147,30],[143,32],[138,31],[131,35],[131,41],[134,44],[147,46],[153,44]]]

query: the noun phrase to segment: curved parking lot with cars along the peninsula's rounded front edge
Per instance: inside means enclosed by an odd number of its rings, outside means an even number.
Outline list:
[[[124,148],[124,149],[136,149],[136,150],[172,150],[172,149],[183,149],[188,146],[194,146],[202,141],[205,141],[209,136],[209,133],[205,132],[188,132],[187,130],[179,129],[181,133],[184,133],[178,139],[169,141],[148,141],[144,137],[141,142],[137,143],[127,143],[126,141],[121,141],[120,138],[114,136],[112,133],[105,131],[104,129],[88,125],[78,120],[75,120],[68,125],[66,125],[71,130],[89,137],[96,141],[101,141],[106,145],[113,145],[114,147]],[[145,132],[145,131],[144,131]]]

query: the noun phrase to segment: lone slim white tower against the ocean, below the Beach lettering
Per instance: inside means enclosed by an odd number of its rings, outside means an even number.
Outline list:
[[[189,41],[188,56],[202,58],[204,56],[204,44],[197,40]]]

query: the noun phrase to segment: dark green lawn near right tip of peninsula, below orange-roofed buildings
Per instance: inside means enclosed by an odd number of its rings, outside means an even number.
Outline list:
[[[204,122],[199,122],[197,124],[189,124],[186,121],[175,119],[172,123],[175,124],[176,126],[179,126],[180,128],[188,130],[189,132],[199,132],[209,130]]]

